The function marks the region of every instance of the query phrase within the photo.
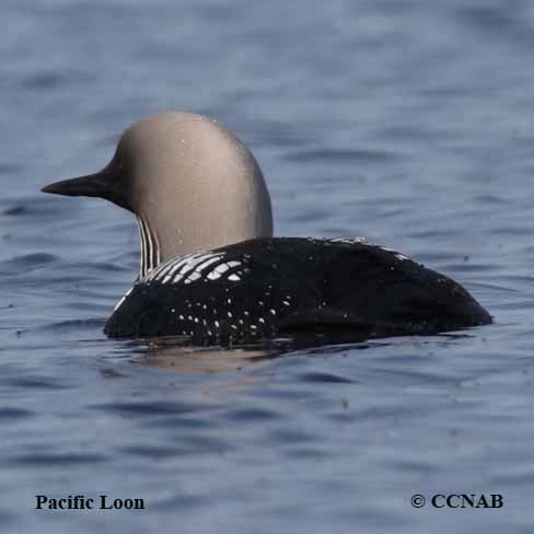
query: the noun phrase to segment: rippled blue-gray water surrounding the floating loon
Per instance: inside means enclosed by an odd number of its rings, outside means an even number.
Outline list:
[[[532,2],[4,0],[0,21],[7,532],[531,532]],[[106,340],[135,223],[38,189],[169,108],[251,146],[278,235],[394,246],[496,324],[276,359]],[[504,507],[410,506],[450,492]]]

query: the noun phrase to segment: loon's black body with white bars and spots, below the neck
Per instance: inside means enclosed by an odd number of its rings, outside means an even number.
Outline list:
[[[160,265],[119,303],[105,332],[211,345],[303,332],[430,334],[488,320],[456,282],[394,251],[359,240],[279,237]]]

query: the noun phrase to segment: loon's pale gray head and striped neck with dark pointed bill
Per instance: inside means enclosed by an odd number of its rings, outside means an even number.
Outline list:
[[[136,123],[104,170],[43,190],[101,197],[134,212],[141,276],[175,256],[272,235],[269,193],[249,150],[212,119],[190,113]]]

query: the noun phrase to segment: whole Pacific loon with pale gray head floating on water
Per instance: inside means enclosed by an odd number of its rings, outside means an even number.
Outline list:
[[[45,193],[101,197],[139,224],[140,272],[109,337],[232,345],[285,335],[428,335],[488,324],[454,280],[362,237],[274,237],[251,151],[208,117],[166,112],[121,136],[102,171]]]

